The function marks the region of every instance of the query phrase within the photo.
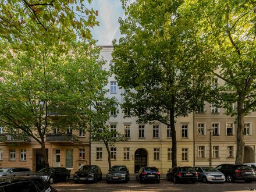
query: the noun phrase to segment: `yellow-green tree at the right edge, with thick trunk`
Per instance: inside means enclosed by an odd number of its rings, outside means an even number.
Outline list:
[[[244,117],[256,109],[256,7],[255,1],[185,1],[182,14],[190,19],[193,40],[200,47],[202,67],[208,76],[225,81],[209,101],[236,115],[236,163],[244,158]],[[236,110],[230,106],[237,103]]]

